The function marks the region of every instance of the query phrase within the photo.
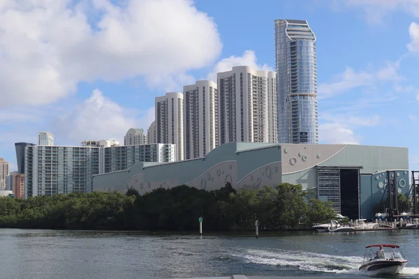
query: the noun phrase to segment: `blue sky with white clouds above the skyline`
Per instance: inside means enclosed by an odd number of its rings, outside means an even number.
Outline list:
[[[409,147],[419,169],[418,0],[0,0],[0,158],[115,139],[154,98],[233,66],[274,70],[274,20],[316,34],[319,143]]]

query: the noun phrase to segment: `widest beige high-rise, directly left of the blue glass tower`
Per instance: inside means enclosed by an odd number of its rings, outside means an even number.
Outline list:
[[[277,142],[275,73],[236,66],[216,76],[219,144]]]

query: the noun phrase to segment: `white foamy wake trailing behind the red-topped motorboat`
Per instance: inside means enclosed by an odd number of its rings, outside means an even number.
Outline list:
[[[247,263],[289,267],[325,273],[359,273],[362,257],[343,257],[306,251],[246,250],[233,255]]]

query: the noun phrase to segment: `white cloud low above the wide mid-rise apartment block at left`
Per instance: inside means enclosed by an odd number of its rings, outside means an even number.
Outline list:
[[[129,128],[143,128],[147,131],[154,121],[154,107],[142,112],[121,107],[95,89],[90,98],[67,114],[52,121],[52,130],[59,139],[71,142],[82,140],[119,140],[123,142]]]

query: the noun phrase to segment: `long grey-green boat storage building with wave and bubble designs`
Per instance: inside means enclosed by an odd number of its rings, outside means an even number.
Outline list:
[[[388,195],[386,171],[397,193],[409,193],[409,150],[351,144],[269,144],[233,142],[205,158],[166,164],[138,163],[122,172],[94,176],[94,190],[140,194],[189,185],[216,190],[301,184],[349,218],[374,218],[374,206]]]

